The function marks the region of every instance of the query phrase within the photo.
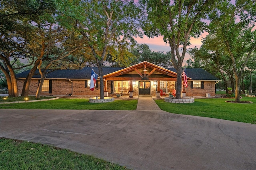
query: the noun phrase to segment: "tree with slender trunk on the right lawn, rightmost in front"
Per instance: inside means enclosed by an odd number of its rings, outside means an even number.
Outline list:
[[[225,44],[232,60],[236,102],[240,102],[240,80],[248,59],[256,49],[256,1],[237,0],[235,4],[226,0],[219,3],[210,15],[210,34]]]

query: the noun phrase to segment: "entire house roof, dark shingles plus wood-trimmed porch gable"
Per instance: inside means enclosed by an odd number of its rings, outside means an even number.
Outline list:
[[[107,77],[113,77],[118,75],[124,75],[125,73],[130,72],[131,70],[135,69],[144,69],[146,66],[146,69],[154,70],[157,72],[160,72],[164,75],[177,77],[176,69],[174,68],[163,68],[158,65],[154,65],[152,63],[149,63],[147,61],[144,61],[142,63],[138,63],[136,65],[132,65],[130,67],[102,67],[103,69],[103,75],[104,78]],[[90,79],[92,69],[98,74],[98,67],[85,67],[84,69],[62,69],[62,70],[55,70],[51,71],[46,74],[46,79]],[[24,71],[22,73],[16,74],[16,77],[18,79],[25,79],[28,75],[28,71]],[[191,78],[192,81],[198,80],[198,81],[219,81],[217,77],[210,74],[209,72],[205,71],[201,68],[186,68],[186,73],[188,80]],[[36,73],[33,75],[33,79],[40,79],[39,71],[36,70]]]

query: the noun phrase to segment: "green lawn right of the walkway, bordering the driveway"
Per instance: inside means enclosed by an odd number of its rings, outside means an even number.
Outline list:
[[[241,101],[253,103],[226,103],[234,99],[195,99],[194,103],[178,104],[155,100],[163,111],[182,115],[211,117],[230,121],[256,124],[256,98],[243,97]]]

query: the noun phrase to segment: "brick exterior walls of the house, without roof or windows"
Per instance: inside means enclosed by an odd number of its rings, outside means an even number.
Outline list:
[[[24,79],[18,79],[18,91],[21,94]],[[188,87],[185,88],[186,96],[206,96],[206,93],[210,93],[211,96],[215,96],[215,81],[204,81],[204,89],[190,88],[191,81],[188,81]],[[73,89],[72,89],[73,85]],[[29,88],[29,95],[36,95],[38,87],[38,79],[32,79]],[[111,81],[107,82],[108,95],[113,96],[111,93]],[[133,95],[138,95],[138,81],[135,81],[133,85]],[[98,87],[94,88],[94,91],[90,90],[90,87],[85,87],[85,80],[72,80],[72,82],[66,79],[53,79],[52,80],[52,93],[41,93],[41,95],[75,95],[75,96],[99,96],[100,95],[100,83]],[[115,94],[114,94],[115,95]],[[129,94],[125,94],[129,95]],[[151,95],[156,96],[156,85],[154,81],[151,81]],[[166,95],[168,96],[168,94]]]

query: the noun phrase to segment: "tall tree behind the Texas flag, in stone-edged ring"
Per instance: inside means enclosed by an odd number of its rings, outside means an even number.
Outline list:
[[[120,47],[125,43],[135,43],[134,36],[142,37],[140,8],[134,1],[84,0],[65,4],[63,25],[73,28],[84,36],[98,64],[100,77],[100,98],[104,98],[102,65],[110,46]],[[75,24],[70,25],[70,20]],[[67,22],[68,21],[68,22]]]

